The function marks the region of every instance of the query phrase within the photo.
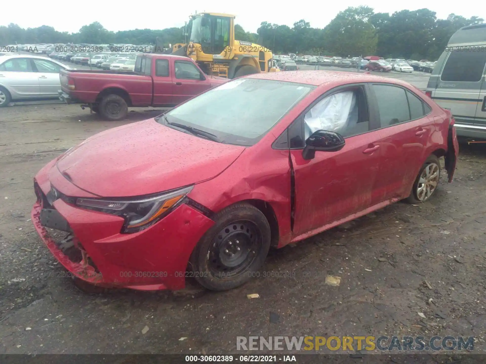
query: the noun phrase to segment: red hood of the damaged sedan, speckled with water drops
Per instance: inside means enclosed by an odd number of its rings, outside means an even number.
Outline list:
[[[56,168],[68,181],[92,194],[132,197],[211,179],[244,149],[149,119],[91,136],[59,158]]]

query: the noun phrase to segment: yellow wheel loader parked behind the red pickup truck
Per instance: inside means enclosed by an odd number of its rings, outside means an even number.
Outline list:
[[[174,44],[164,51],[157,38],[154,53],[192,58],[208,75],[229,79],[260,72],[277,72],[272,52],[251,42],[235,40],[235,16],[220,13],[192,15],[188,44]]]

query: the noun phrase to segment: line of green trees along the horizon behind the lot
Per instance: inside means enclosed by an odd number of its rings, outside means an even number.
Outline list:
[[[291,28],[263,21],[257,33],[245,32],[235,25],[235,39],[254,42],[275,54],[313,54],[329,56],[380,55],[384,58],[437,59],[451,35],[459,28],[482,23],[479,17],[449,15],[437,19],[429,9],[401,10],[392,15],[375,13],[368,6],[349,7],[323,28],[312,28],[301,19]],[[181,28],[135,29],[110,32],[99,22],[83,26],[78,33],[58,32],[43,25],[23,29],[17,24],[0,26],[0,45],[39,43],[155,44],[182,43],[191,31],[191,21]]]

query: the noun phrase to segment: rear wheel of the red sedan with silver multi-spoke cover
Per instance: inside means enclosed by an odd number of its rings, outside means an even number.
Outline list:
[[[430,155],[420,168],[417,178],[412,186],[410,196],[406,199],[408,203],[419,203],[428,201],[435,190],[440,178],[439,158],[434,154]]]

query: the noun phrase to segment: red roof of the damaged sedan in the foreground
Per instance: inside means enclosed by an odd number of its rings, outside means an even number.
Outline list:
[[[409,83],[389,77],[345,71],[304,70],[289,72],[265,72],[244,76],[261,80],[274,80],[322,86],[331,83],[385,82],[410,87]]]

